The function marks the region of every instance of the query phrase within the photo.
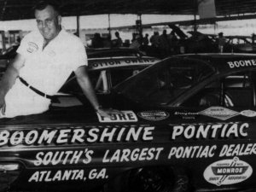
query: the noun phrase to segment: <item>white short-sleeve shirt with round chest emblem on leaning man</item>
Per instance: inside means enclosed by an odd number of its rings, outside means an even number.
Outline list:
[[[87,55],[80,38],[64,29],[44,49],[43,44],[38,31],[22,39],[17,53],[26,61],[20,77],[45,94],[54,95],[73,71],[87,65]]]

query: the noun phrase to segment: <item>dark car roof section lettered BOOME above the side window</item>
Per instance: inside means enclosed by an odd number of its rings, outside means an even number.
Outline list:
[[[207,65],[215,68],[219,73],[227,73],[231,71],[241,71],[242,69],[256,69],[256,55],[255,54],[188,54],[177,55],[174,58],[194,59],[204,61]]]

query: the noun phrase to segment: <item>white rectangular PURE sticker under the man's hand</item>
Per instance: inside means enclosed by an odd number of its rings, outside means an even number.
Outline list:
[[[99,113],[96,113],[101,123],[112,122],[137,122],[137,116],[132,111],[121,111],[121,113],[112,113],[110,118],[102,117]]]

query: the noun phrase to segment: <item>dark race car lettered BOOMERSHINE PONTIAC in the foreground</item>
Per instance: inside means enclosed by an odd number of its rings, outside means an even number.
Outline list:
[[[113,87],[104,108],[1,119],[2,191],[224,191],[256,186],[256,56],[176,55]]]

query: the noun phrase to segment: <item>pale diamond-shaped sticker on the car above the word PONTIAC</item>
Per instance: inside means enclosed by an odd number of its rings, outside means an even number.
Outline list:
[[[201,111],[200,114],[206,115],[212,118],[216,119],[230,119],[231,117],[234,117],[238,115],[239,113],[233,110],[230,110],[229,108],[222,108],[222,107],[211,107],[207,108],[204,111]]]

